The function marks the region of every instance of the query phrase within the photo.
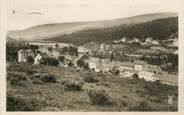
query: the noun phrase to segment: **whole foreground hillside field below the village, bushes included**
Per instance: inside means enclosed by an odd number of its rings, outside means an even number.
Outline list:
[[[72,67],[7,62],[8,111],[177,111],[177,88]]]

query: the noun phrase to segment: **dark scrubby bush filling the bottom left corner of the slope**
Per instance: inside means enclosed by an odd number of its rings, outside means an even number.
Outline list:
[[[36,111],[36,102],[7,96],[7,111]]]

